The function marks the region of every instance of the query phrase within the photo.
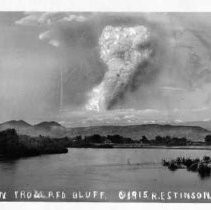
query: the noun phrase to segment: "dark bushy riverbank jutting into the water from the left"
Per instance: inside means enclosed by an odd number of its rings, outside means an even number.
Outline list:
[[[5,157],[20,158],[67,152],[64,139],[18,135],[15,129],[0,132],[0,154]]]

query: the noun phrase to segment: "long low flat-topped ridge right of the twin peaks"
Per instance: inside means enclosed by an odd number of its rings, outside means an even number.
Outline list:
[[[160,124],[145,124],[145,125],[129,125],[129,126],[95,126],[72,128],[67,132],[68,136],[76,135],[114,135],[119,134],[132,139],[140,139],[146,136],[148,139],[153,139],[156,136],[171,136],[171,137],[186,137],[193,141],[204,141],[204,137],[211,132],[199,126],[183,126],[183,125],[160,125]]]

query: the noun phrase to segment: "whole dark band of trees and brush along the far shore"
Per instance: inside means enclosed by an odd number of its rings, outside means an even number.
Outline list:
[[[210,147],[209,147],[210,146]],[[140,148],[140,149],[200,149],[211,150],[211,136],[207,135],[204,141],[191,140],[170,136],[156,136],[147,139],[142,136],[139,140],[132,140],[120,135],[76,136],[53,138],[49,136],[32,137],[20,135],[15,129],[0,131],[0,155],[11,158],[36,156],[41,154],[67,153],[68,148]]]

